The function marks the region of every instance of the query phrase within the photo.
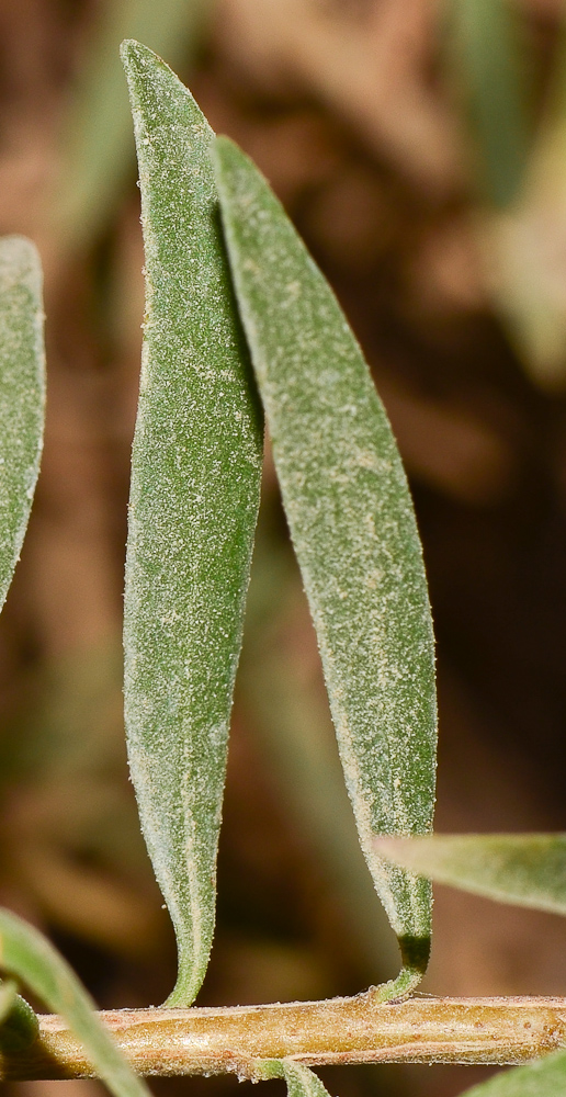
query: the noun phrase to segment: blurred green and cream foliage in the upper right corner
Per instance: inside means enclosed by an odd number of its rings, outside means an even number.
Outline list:
[[[525,9],[512,0],[450,0],[451,83],[474,138],[477,231],[486,284],[533,380],[566,378],[565,22],[536,104]]]

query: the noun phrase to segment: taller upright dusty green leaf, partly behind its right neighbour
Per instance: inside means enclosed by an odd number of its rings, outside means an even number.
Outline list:
[[[125,711],[142,828],[190,1005],[214,928],[226,746],[259,501],[260,414],[217,217],[214,134],[151,50],[123,46],[146,324],[132,457]]]

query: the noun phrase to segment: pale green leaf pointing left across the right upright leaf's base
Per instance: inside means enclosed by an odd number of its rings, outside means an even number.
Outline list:
[[[566,834],[380,838],[376,847],[396,864],[441,884],[566,915]]]

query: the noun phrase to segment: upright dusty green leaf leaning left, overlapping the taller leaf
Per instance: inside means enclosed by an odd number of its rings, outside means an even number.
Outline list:
[[[226,138],[217,184],[238,304],[318,635],[361,845],[407,971],[426,966],[429,884],[377,853],[429,832],[433,640],[409,491],[383,406],[320,271],[265,180]]]

